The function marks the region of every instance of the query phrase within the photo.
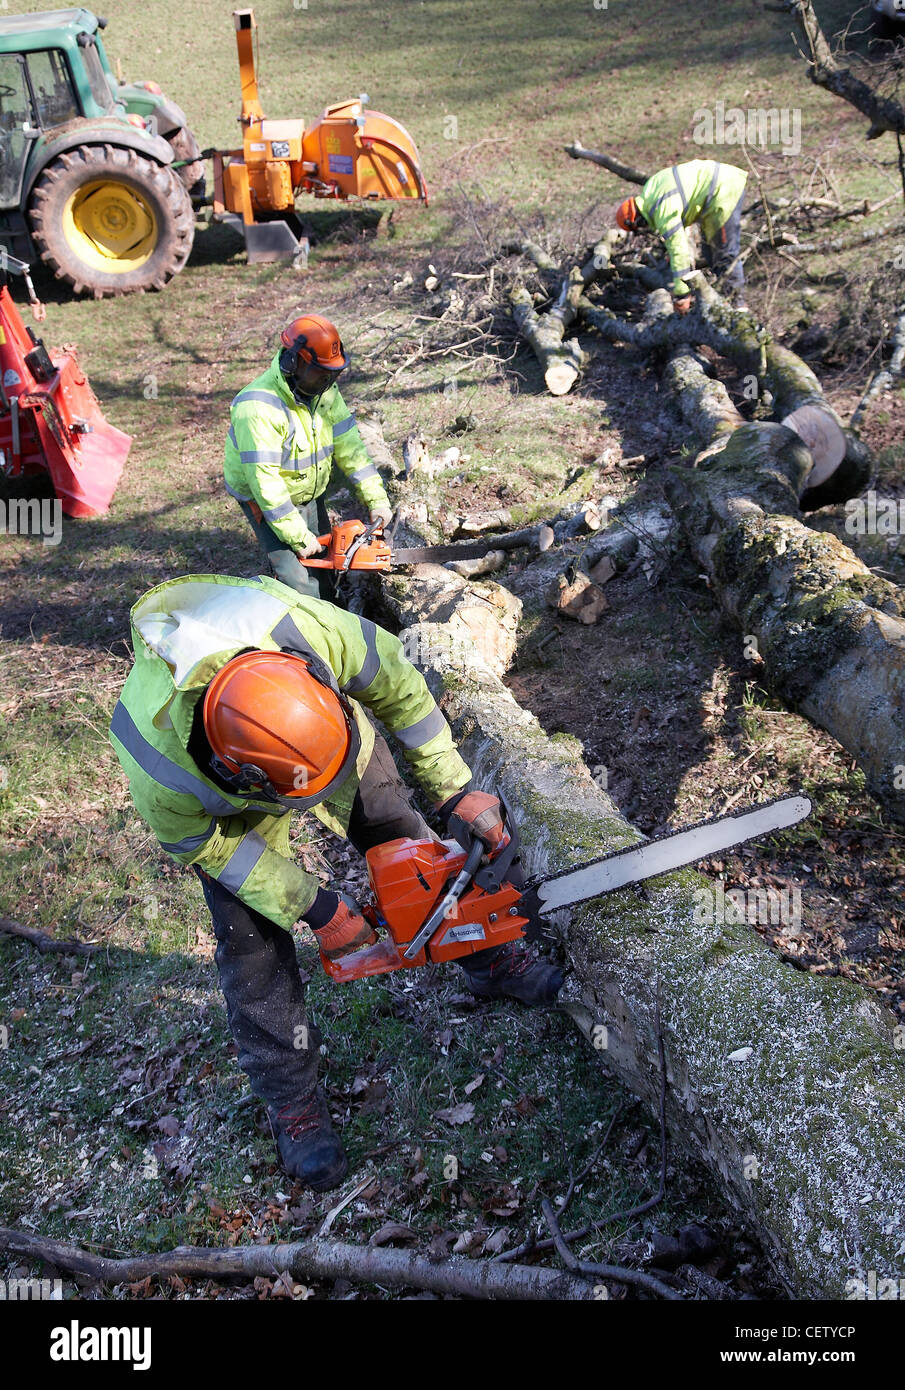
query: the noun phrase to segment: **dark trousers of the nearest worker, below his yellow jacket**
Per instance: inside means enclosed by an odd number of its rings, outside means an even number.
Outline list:
[[[431,838],[410,796],[378,735],[349,821],[349,840],[360,853],[403,835]],[[292,933],[246,908],[210,876],[200,870],[199,876],[217,937],[220,987],[239,1066],[254,1094],[281,1109],[313,1090],[321,1044],[304,1008]]]

